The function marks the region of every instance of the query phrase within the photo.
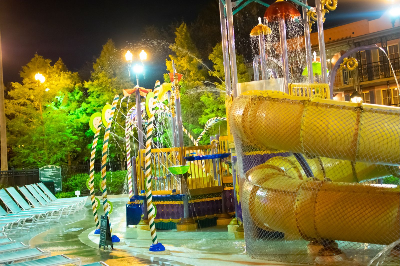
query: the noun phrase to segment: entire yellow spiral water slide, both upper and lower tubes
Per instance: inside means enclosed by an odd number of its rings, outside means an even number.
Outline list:
[[[250,169],[240,197],[253,222],[306,240],[396,241],[399,188],[344,182],[398,175],[399,114],[396,107],[275,91],[240,95],[230,114],[237,150],[305,154],[315,177],[306,179],[291,157]],[[336,182],[318,181],[325,178]]]

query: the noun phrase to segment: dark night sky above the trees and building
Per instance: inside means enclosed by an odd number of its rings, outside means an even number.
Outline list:
[[[61,57],[68,69],[77,71],[100,54],[109,38],[124,47],[140,40],[145,25],[192,22],[198,10],[213,1],[1,0],[4,83],[21,81],[18,72],[36,52],[53,63]],[[377,18],[389,4],[389,0],[339,0],[338,8],[327,14],[325,27]]]

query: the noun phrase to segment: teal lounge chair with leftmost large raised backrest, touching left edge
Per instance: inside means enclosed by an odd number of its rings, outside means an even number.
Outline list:
[[[10,212],[7,214],[8,217],[18,218],[16,216],[36,216],[38,222],[47,223],[50,220],[59,220],[62,212],[62,208],[52,208],[50,210],[21,210],[18,205],[11,199],[4,189],[0,189],[0,199],[4,202]]]

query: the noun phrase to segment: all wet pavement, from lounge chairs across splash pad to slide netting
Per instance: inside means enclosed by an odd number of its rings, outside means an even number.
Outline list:
[[[252,259],[246,255],[243,239],[235,239],[226,226],[199,228],[193,232],[157,230],[158,240],[170,254],[150,254],[150,231],[126,228],[126,198],[111,199],[114,210],[110,215],[113,233],[120,237],[114,250],[98,248],[99,237],[95,236],[94,219],[90,202],[83,210],[60,222],[38,225],[22,234],[11,235],[12,239],[52,252],[52,256],[64,254],[70,258],[81,258],[82,265],[103,261],[110,266],[240,266],[240,265],[293,265]],[[98,215],[102,214],[101,208]]]

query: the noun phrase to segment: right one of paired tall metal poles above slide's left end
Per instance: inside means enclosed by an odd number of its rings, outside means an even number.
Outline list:
[[[228,22],[228,40],[229,40],[229,54],[230,54],[230,66],[232,74],[232,92],[233,97],[237,95],[236,84],[238,83],[238,68],[236,67],[236,48],[235,48],[235,35],[233,30],[233,14],[232,14],[232,2],[226,0],[226,19]]]

